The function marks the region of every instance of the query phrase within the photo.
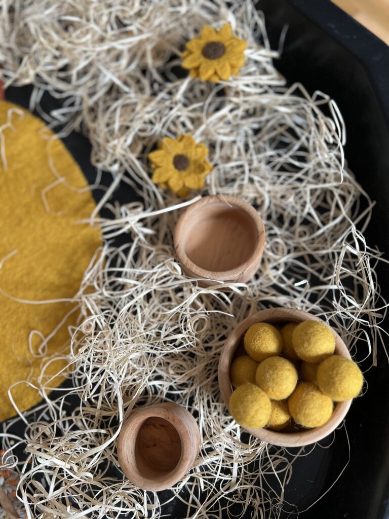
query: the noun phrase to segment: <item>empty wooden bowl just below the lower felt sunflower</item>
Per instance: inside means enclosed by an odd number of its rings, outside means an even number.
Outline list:
[[[258,269],[265,227],[257,211],[239,198],[202,198],[179,217],[174,248],[185,274],[201,286],[250,279]]]

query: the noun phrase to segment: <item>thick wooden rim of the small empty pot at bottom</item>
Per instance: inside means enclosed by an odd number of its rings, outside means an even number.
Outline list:
[[[177,422],[174,424],[171,421],[171,415],[174,415]],[[190,420],[190,424],[193,427],[193,429],[196,426],[196,436],[197,436],[197,445],[189,444],[188,443],[188,427],[184,424],[184,419],[182,415],[186,415],[188,420]],[[179,439],[181,442],[181,456],[179,458],[179,461],[175,468],[171,470],[170,472],[164,474],[165,477],[160,481],[156,481],[151,478],[144,477],[137,473],[136,470],[133,469],[133,466],[130,465],[126,458],[124,457],[124,449],[126,445],[126,440],[130,436],[131,442],[136,441],[137,434],[147,418],[150,418],[152,416],[156,416],[159,418],[163,418],[167,420],[177,431],[179,435]],[[135,429],[135,434],[132,431],[132,427],[134,426],[134,422],[139,422],[139,426]],[[132,438],[131,436],[134,436]],[[118,460],[120,468],[123,472],[123,474],[133,483],[135,486],[140,487],[144,490],[152,490],[152,491],[159,491],[159,490],[166,490],[168,488],[171,488],[174,486],[175,483],[177,483],[179,480],[181,480],[185,474],[190,470],[190,467],[188,467],[188,460],[190,461],[193,456],[190,456],[188,458],[187,453],[189,449],[193,450],[193,453],[196,450],[194,459],[192,460],[191,466],[196,460],[196,457],[199,454],[200,451],[200,444],[201,444],[201,437],[200,437],[200,431],[199,427],[197,425],[197,422],[195,418],[189,413],[189,411],[174,402],[163,402],[160,404],[151,404],[147,407],[142,407],[139,409],[136,409],[133,411],[129,418],[126,420],[126,422],[123,424],[122,429],[118,436],[118,442],[117,442],[117,453],[118,453]],[[189,447],[189,448],[188,448]]]

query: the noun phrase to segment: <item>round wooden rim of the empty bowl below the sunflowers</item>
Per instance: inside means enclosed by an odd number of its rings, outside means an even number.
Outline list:
[[[181,238],[188,218],[190,218],[194,212],[201,209],[201,207],[204,204],[209,204],[213,202],[225,202],[227,206],[232,206],[240,209],[241,211],[244,211],[248,215],[248,217],[251,218],[252,222],[254,223],[254,227],[258,233],[256,247],[252,252],[251,256],[248,258],[248,260],[230,270],[205,270],[196,265],[196,263],[193,263],[186,255],[184,247],[181,246]],[[202,197],[201,200],[192,203],[183,212],[183,214],[180,215],[174,228],[173,242],[178,261],[182,265],[184,265],[185,268],[193,272],[193,274],[195,274],[199,278],[214,279],[216,281],[225,281],[237,277],[239,274],[241,274],[241,272],[245,272],[246,270],[251,269],[259,262],[263,253],[263,249],[265,248],[266,233],[262,218],[259,216],[258,212],[254,209],[254,207],[251,204],[245,202],[241,198],[237,198],[231,195],[210,195]]]

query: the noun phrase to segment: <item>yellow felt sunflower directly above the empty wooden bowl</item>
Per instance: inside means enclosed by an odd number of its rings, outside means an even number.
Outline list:
[[[201,189],[212,164],[206,160],[208,148],[197,144],[191,135],[177,139],[165,137],[158,149],[148,155],[154,169],[152,181],[160,187],[169,187],[178,196],[186,196],[190,189]]]

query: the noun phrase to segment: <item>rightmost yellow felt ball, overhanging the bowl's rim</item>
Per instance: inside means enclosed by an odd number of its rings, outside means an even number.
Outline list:
[[[358,365],[340,355],[328,357],[317,368],[318,387],[335,402],[357,397],[363,381]]]

